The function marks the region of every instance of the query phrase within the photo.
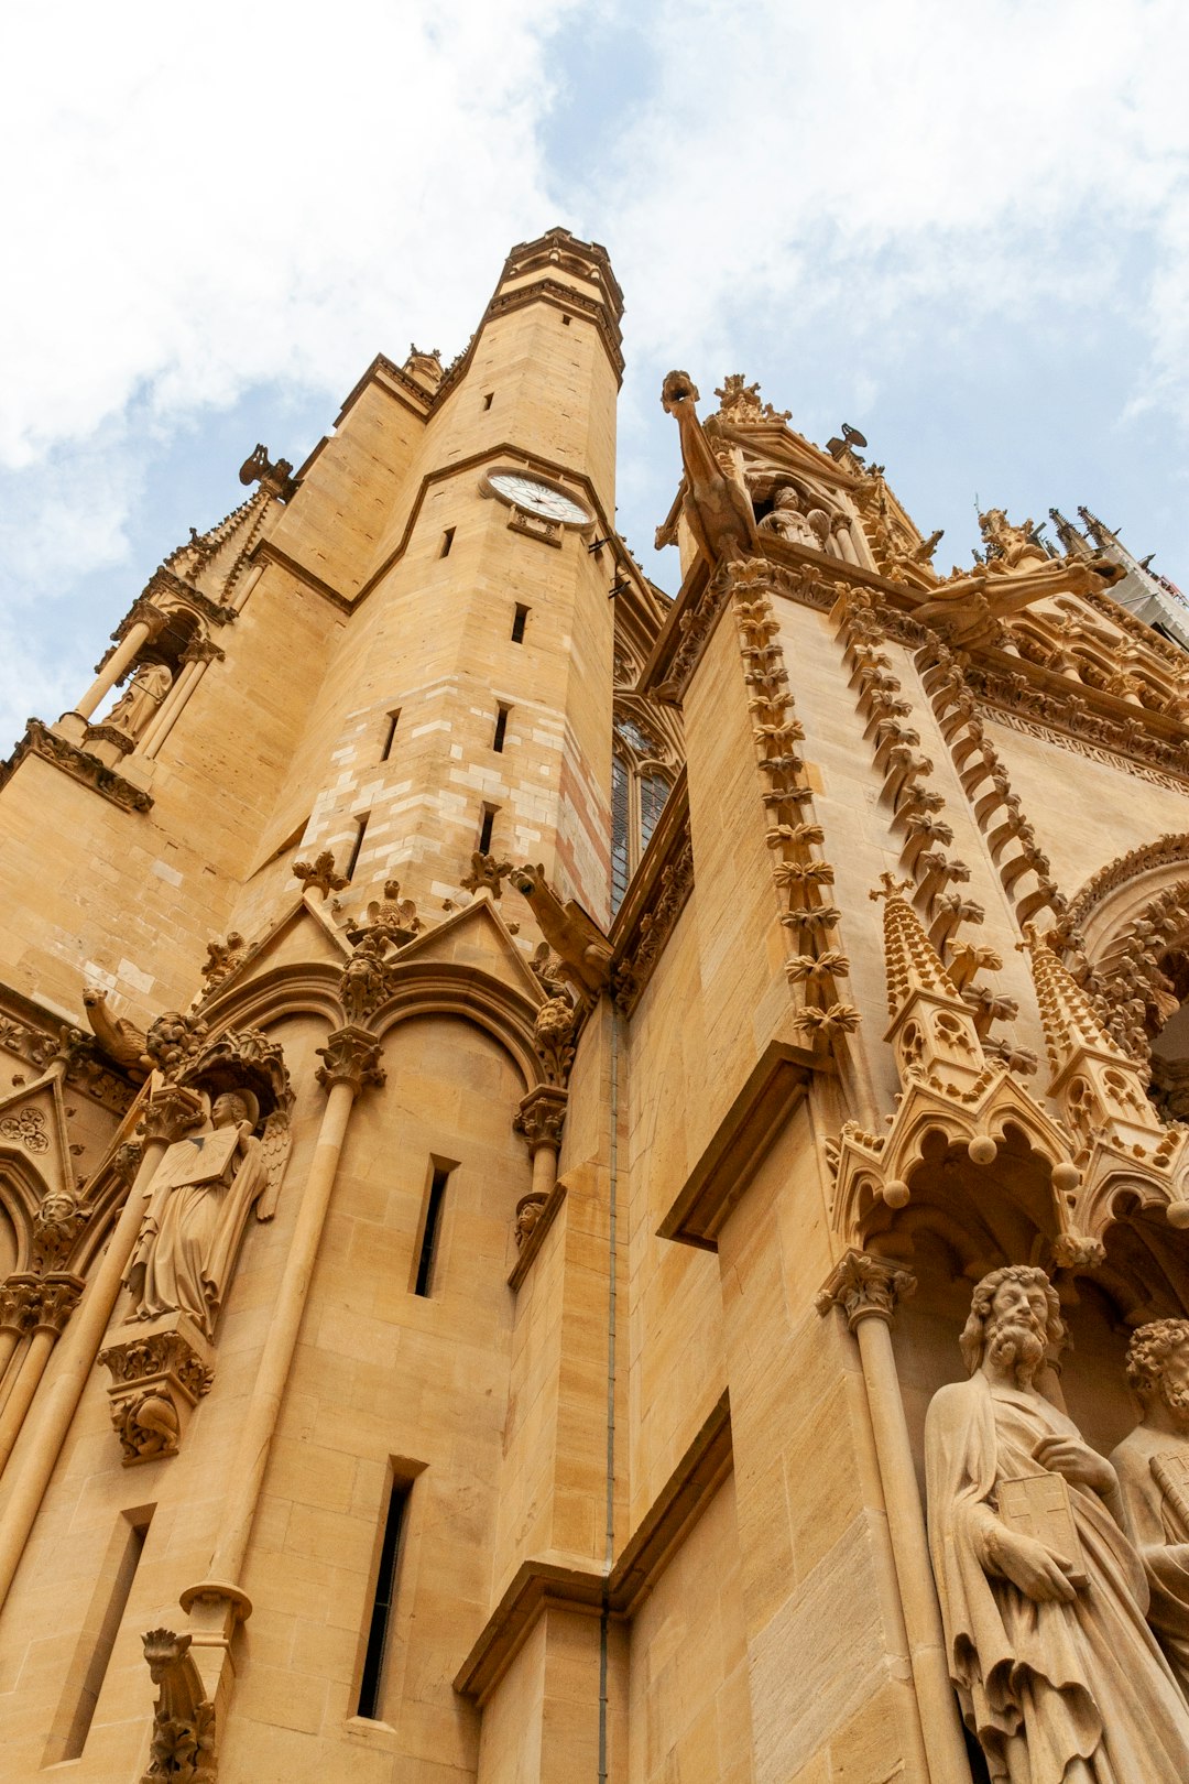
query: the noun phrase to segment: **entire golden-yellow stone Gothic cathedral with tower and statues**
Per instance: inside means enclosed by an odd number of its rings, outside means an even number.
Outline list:
[[[5,1779],[1189,1777],[1189,605],[685,371],[670,601],[620,314],[515,248],[0,769]]]

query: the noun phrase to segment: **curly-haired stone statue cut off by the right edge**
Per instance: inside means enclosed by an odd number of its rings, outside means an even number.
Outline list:
[[[1111,1463],[1148,1570],[1148,1622],[1189,1697],[1189,1320],[1141,1326],[1127,1379],[1143,1418]]]

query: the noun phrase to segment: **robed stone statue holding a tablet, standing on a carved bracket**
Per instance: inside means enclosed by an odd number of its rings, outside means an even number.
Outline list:
[[[269,1115],[262,1140],[257,1120],[250,1090],[223,1092],[203,1126],[166,1151],[125,1277],[130,1320],[187,1313],[214,1336],[248,1213],[255,1206],[257,1220],[273,1218],[289,1154],[287,1117]]]

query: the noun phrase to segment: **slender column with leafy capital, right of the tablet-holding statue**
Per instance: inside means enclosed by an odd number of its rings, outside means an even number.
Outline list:
[[[326,1108],[314,1147],[310,1174],[301,1192],[301,1206],[289,1242],[289,1256],[273,1304],[273,1322],[251,1386],[251,1397],[239,1431],[239,1445],[230,1472],[230,1497],[219,1524],[219,1540],[210,1561],[210,1575],[182,1593],[182,1609],[193,1623],[193,1654],[203,1675],[216,1714],[226,1709],[232,1688],[230,1647],[235,1625],[251,1615],[251,1600],[239,1584],[248,1554],[248,1538],[264,1486],[276,1420],[292,1356],[298,1347],[301,1315],[326,1224],[330,1197],[339,1174],[355,1099],[365,1085],[383,1085],[380,1042],[362,1028],[340,1028],[319,1047],[323,1065],[317,1081],[326,1088]]]

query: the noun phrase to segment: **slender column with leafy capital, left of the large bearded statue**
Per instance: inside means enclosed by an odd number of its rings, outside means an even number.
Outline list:
[[[841,1308],[847,1327],[859,1345],[929,1775],[932,1784],[968,1784],[970,1763],[957,1714],[957,1698],[950,1684],[941,1607],[932,1582],[925,1515],[913,1465],[913,1443],[891,1349],[891,1317],[897,1299],[911,1295],[914,1288],[916,1277],[909,1270],[863,1251],[849,1251],[822,1288],[818,1311],[825,1313],[831,1306]]]

